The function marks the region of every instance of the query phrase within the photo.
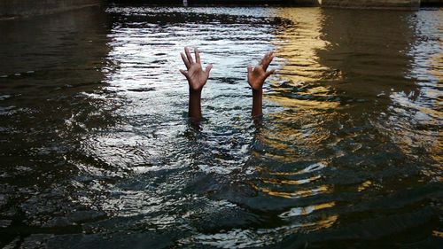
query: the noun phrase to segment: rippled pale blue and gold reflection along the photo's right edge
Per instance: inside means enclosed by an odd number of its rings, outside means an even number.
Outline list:
[[[441,90],[443,52],[441,14],[417,12],[411,19],[415,42],[408,55],[411,68],[407,78],[414,82],[414,92],[392,92],[392,105],[380,120],[380,128],[401,150],[421,160],[422,173],[430,179],[441,178]]]

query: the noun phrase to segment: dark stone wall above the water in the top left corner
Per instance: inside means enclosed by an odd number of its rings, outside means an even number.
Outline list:
[[[64,12],[101,2],[102,0],[0,0],[0,19]]]

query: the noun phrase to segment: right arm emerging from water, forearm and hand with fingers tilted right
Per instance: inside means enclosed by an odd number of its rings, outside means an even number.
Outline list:
[[[270,74],[274,74],[275,69],[268,70],[268,66],[274,58],[274,51],[268,51],[261,59],[259,65],[248,66],[248,83],[253,89],[253,118],[262,114],[263,83]]]

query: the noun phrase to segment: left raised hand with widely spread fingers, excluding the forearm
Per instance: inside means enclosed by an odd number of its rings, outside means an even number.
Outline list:
[[[184,53],[181,52],[184,65],[188,69],[188,71],[184,71],[180,69],[180,72],[186,77],[188,83],[190,85],[190,92],[201,91],[206,84],[207,78],[209,78],[209,73],[211,72],[211,68],[213,66],[209,64],[206,66],[205,71],[203,71],[200,62],[200,54],[198,53],[198,49],[195,49],[195,62],[190,55],[190,50],[187,47],[184,47]]]

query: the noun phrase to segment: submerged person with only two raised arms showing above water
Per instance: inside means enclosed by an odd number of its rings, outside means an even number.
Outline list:
[[[180,70],[180,72],[188,80],[190,86],[190,99],[189,99],[189,113],[188,116],[191,119],[201,119],[201,90],[206,84],[209,78],[209,73],[213,68],[212,64],[206,66],[205,71],[201,67],[200,54],[198,49],[195,49],[195,61],[190,54],[189,48],[184,48],[184,53],[180,53],[184,62],[184,65],[188,69]],[[274,74],[275,69],[268,70],[268,66],[274,58],[274,52],[268,51],[265,56],[260,60],[260,63],[253,67],[247,66],[247,81],[251,89],[253,90],[253,108],[251,115],[253,118],[260,117],[262,115],[262,96],[263,96],[263,83],[266,81],[270,74]],[[267,71],[268,70],[268,71]]]

